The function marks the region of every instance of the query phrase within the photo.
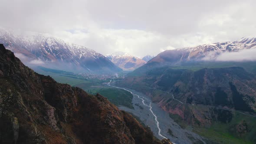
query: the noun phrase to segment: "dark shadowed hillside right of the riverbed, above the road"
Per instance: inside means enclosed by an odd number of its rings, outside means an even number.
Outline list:
[[[256,111],[256,77],[240,67],[205,68],[194,72],[166,66],[137,76],[128,75],[117,83],[151,95],[153,101],[158,102],[165,111],[180,115],[181,118],[188,116],[181,102],[252,113]],[[157,94],[157,90],[162,93]],[[170,93],[181,102],[173,101]],[[201,124],[208,124],[214,120],[211,115],[208,117],[193,111],[192,115],[186,118],[187,121],[196,123],[193,119],[197,117]]]

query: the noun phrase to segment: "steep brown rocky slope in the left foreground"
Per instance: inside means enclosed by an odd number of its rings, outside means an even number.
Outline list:
[[[37,74],[0,44],[0,143],[165,142],[103,96]]]

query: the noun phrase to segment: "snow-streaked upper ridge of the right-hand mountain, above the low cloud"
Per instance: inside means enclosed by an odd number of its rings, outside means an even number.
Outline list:
[[[186,47],[181,49],[166,50],[151,59],[151,62],[160,62],[175,64],[179,62],[215,60],[224,52],[239,52],[243,49],[255,49],[256,38],[241,38],[234,42],[222,42],[213,44],[204,44],[194,47]]]

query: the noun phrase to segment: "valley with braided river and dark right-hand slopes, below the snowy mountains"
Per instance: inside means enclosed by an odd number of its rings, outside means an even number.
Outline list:
[[[103,95],[120,110],[133,115],[160,140],[168,138],[174,144],[250,144],[255,141],[252,135],[256,134],[256,115],[244,103],[241,109],[241,103],[230,105],[222,98],[205,99],[208,93],[202,93],[203,97],[181,95],[182,92],[189,94],[207,89],[208,85],[219,85],[219,89],[213,88],[220,93],[217,95],[232,92],[233,100],[241,102],[234,98],[240,98],[243,85],[254,89],[254,62],[184,62],[161,67],[150,64],[148,62],[133,72],[112,74],[75,73],[42,66],[31,68],[50,75],[57,82],[82,88],[92,95]],[[232,75],[232,79],[225,77],[226,73]],[[209,79],[207,87],[200,78],[203,75],[209,77],[204,77],[204,81]],[[246,81],[249,79],[252,80]],[[229,83],[223,83],[223,80]],[[240,89],[236,88],[238,84]],[[223,92],[221,87],[230,87],[231,91]],[[249,98],[253,91],[243,95]],[[253,99],[249,100],[253,102]],[[236,132],[238,129],[241,129],[239,133]]]

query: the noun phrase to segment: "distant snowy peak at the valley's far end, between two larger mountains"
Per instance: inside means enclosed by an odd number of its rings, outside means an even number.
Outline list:
[[[105,55],[105,57],[107,57],[109,60],[111,60],[119,68],[126,70],[126,71],[131,71],[131,70],[137,69],[138,67],[140,67],[146,63],[146,61],[144,61],[138,57],[131,56],[124,52],[115,52],[110,55]]]

